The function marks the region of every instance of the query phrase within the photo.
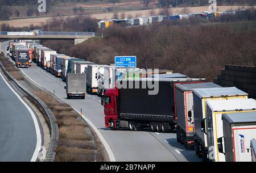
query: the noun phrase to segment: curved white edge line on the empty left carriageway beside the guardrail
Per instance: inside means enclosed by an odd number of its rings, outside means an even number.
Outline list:
[[[24,104],[24,106],[28,109],[28,111],[30,112],[30,115],[34,121],[35,129],[36,129],[36,148],[35,148],[34,154],[32,155],[31,162],[36,162],[36,159],[38,158],[38,154],[39,154],[39,151],[40,151],[41,145],[42,145],[42,138],[41,138],[40,128],[39,128],[39,124],[38,124],[38,119],[36,119],[36,116],[35,116],[34,112],[32,111],[32,109],[27,105],[26,102],[24,102],[24,100],[22,100],[22,98],[20,98],[20,96],[16,93],[16,91],[14,91],[14,89],[9,85],[9,83],[7,83],[7,81],[5,80],[5,78],[3,77],[3,75],[1,73],[0,73],[0,76],[2,77],[3,81],[5,81],[6,85],[11,89],[11,91],[13,91],[13,93],[17,96],[17,98],[20,100],[20,102],[22,102]]]

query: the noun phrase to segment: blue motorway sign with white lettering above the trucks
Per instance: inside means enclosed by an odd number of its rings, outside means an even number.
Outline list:
[[[115,66],[116,67],[127,67],[136,68],[137,67],[137,57],[136,56],[116,56]]]

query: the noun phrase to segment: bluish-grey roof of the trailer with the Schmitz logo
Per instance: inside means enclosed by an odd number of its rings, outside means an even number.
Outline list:
[[[224,119],[229,124],[256,123],[256,112],[223,113],[222,120]]]

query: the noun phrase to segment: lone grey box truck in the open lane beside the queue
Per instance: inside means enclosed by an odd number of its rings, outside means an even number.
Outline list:
[[[67,99],[74,97],[85,99],[86,74],[68,73],[66,82]]]

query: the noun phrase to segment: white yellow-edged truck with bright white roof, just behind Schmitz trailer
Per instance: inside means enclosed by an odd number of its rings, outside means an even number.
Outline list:
[[[235,112],[255,112],[256,101],[254,99],[229,99],[229,100],[208,100],[207,102],[206,126],[201,125],[207,132],[208,158],[213,162],[225,162],[225,155],[218,148],[218,138],[223,137],[222,114]],[[242,115],[241,115],[242,116]],[[256,117],[256,116],[255,116]],[[225,144],[225,142],[224,142]]]

